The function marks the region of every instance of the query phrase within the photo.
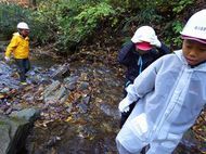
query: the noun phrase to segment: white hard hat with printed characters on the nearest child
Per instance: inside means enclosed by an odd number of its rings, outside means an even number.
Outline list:
[[[193,14],[180,34],[189,38],[206,40],[206,9]]]

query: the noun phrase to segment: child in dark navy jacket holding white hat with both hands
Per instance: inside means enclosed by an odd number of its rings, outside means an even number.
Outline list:
[[[157,39],[155,30],[151,26],[139,27],[131,41],[125,44],[118,54],[119,63],[127,67],[125,88],[133,84],[134,78],[152,62],[169,52],[169,49]],[[127,92],[124,91],[124,94],[126,95]],[[128,111],[121,111],[120,127],[125,124],[133,106],[134,103],[130,104]]]

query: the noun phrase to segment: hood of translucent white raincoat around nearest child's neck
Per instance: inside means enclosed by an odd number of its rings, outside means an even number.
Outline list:
[[[175,51],[175,54],[180,59],[180,61],[184,65],[188,65],[188,62],[186,62],[185,57],[183,56],[182,50]],[[193,68],[194,68],[194,70],[206,72],[206,62],[201,63],[201,64],[194,66]]]

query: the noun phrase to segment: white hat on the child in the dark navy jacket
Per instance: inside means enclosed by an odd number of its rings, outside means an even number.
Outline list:
[[[152,42],[153,40],[156,40],[157,36],[155,34],[155,30],[150,27],[150,26],[142,26],[140,28],[138,28],[133,35],[133,37],[131,38],[131,41],[133,43],[137,42]]]

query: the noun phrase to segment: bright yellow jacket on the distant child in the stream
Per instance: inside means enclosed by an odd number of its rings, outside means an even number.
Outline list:
[[[11,52],[13,52],[14,59],[27,59],[29,54],[29,38],[24,38],[18,33],[14,33],[7,48],[5,56],[10,57]]]

